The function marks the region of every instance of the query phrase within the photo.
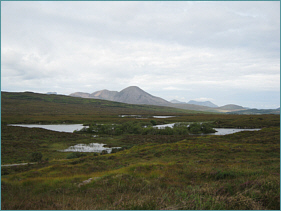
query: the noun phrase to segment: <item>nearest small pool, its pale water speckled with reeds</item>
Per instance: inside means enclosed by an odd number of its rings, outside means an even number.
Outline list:
[[[120,149],[121,147],[104,147],[106,144],[90,143],[90,144],[76,144],[67,149],[60,150],[61,152],[98,152],[101,153],[106,150],[107,153],[111,153],[112,149]]]

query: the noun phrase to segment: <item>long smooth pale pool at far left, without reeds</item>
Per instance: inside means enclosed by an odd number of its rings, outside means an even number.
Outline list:
[[[41,125],[41,124],[9,124],[8,126],[43,128],[57,132],[73,133],[74,130],[81,130],[84,127],[82,124],[59,124],[59,125]]]

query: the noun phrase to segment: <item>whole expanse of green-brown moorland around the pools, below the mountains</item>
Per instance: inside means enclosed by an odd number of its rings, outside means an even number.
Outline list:
[[[173,117],[153,117],[162,115]],[[182,126],[165,132],[152,127],[176,122]],[[16,123],[80,123],[89,129],[8,126]],[[198,124],[187,130],[190,123]],[[261,130],[198,135],[204,133],[201,123],[204,130]],[[61,151],[80,143],[121,149]],[[3,210],[279,210],[280,116],[2,92],[1,164],[14,163],[28,164],[1,167]]]

